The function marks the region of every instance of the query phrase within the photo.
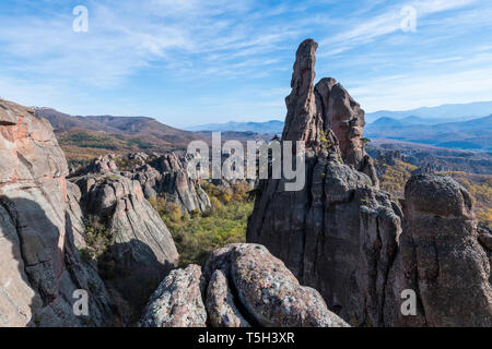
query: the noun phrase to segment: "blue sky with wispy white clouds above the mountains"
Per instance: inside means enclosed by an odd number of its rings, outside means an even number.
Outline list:
[[[75,5],[89,32],[74,33]],[[403,32],[403,7],[417,31]],[[175,125],[283,119],[297,45],[366,111],[492,100],[492,1],[0,2],[0,97]]]

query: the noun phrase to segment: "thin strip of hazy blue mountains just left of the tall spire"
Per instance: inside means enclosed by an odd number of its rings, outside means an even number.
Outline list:
[[[259,134],[282,134],[283,121],[270,120],[266,122],[226,122],[208,123],[187,128],[188,131],[235,131],[235,132],[255,132]]]

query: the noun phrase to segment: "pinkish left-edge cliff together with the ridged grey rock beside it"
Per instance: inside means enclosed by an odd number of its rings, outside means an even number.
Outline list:
[[[178,261],[140,182],[118,172],[115,155],[67,181],[49,123],[3,100],[0,110],[0,324],[130,323]],[[73,314],[77,289],[90,293],[90,316]]]

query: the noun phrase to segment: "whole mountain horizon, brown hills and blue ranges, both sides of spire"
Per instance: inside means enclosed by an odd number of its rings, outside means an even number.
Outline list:
[[[52,108],[35,108],[36,115],[51,123],[69,157],[94,156],[108,152],[186,148],[194,140],[210,141],[212,131],[225,140],[270,140],[281,135],[284,123],[266,122],[211,123],[179,130],[148,117],[70,116]],[[471,119],[490,110],[489,117]],[[492,152],[492,103],[445,105],[409,111],[368,113],[364,135],[368,139],[411,142],[438,147]],[[432,116],[432,117],[430,117]],[[447,117],[446,117],[447,116]],[[461,119],[448,122],[447,120]],[[465,120],[465,121],[464,121]]]

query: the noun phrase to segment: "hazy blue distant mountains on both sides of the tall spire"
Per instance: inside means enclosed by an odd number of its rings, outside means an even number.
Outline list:
[[[368,139],[420,143],[454,149],[492,152],[492,101],[424,107],[407,111],[376,111],[366,115]],[[282,134],[283,122],[210,123],[190,131],[235,131]]]

